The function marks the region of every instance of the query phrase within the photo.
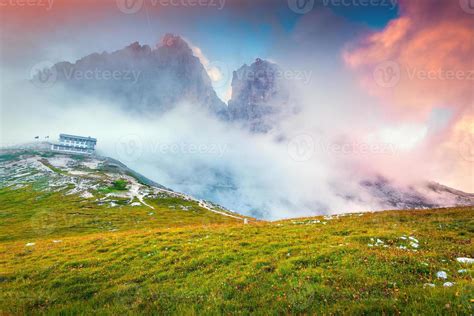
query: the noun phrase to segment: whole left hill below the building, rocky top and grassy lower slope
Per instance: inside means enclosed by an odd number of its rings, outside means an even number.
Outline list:
[[[0,241],[242,222],[103,157],[0,152]]]

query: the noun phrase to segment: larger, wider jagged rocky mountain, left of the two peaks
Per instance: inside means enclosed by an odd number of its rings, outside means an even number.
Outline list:
[[[53,68],[57,81],[66,87],[141,114],[163,113],[188,101],[227,116],[206,70],[179,36],[165,35],[154,49],[135,42],[113,53],[95,53]]]

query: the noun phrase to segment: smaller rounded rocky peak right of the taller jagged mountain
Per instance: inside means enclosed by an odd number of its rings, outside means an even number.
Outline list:
[[[257,59],[234,71],[229,117],[254,132],[267,132],[295,111],[283,72],[273,63]]]

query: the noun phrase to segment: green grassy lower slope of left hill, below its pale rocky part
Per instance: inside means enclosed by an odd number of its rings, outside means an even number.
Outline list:
[[[0,241],[242,222],[177,197],[148,199],[147,204],[154,209],[144,205],[107,207],[61,191],[0,189]]]

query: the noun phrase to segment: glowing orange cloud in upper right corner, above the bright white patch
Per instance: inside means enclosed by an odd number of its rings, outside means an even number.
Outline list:
[[[473,106],[474,16],[458,1],[400,5],[400,18],[344,52],[346,64],[392,114],[425,119],[437,106],[467,111]]]

